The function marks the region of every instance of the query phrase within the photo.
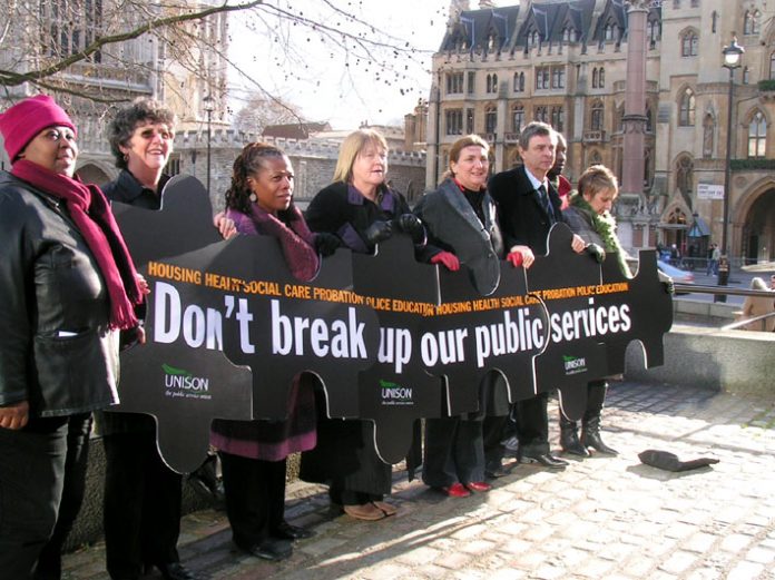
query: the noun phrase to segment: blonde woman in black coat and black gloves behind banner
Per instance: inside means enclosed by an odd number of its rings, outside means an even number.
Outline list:
[[[313,232],[327,233],[326,239],[364,254],[373,253],[393,228],[422,243],[422,224],[404,197],[385,185],[386,173],[385,138],[371,129],[350,134],[340,147],[334,183],[317,193],[306,212]],[[352,518],[393,515],[395,508],[383,501],[391,490],[391,465],[374,450],[372,423],[327,419],[325,406],[318,404],[317,446],[302,455],[301,478],[327,483],[332,503]]]

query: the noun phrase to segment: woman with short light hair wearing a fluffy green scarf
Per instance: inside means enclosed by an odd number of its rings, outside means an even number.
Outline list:
[[[606,253],[615,253],[621,272],[630,276],[627,255],[616,236],[616,219],[610,214],[618,194],[619,185],[611,170],[602,165],[592,165],[581,174],[579,189],[570,195],[570,204],[563,215],[570,229],[587,244],[597,244]],[[570,421],[560,412],[560,446],[563,451],[588,456],[587,448],[592,448],[601,453],[617,454],[600,439],[600,414],[607,390],[605,379],[588,383],[580,439],[576,421]]]

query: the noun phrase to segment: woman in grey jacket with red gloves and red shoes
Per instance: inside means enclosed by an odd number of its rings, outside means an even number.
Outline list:
[[[489,149],[478,135],[458,139],[450,148],[444,180],[414,208],[428,230],[430,262],[450,271],[464,264],[482,295],[492,294],[498,287],[503,255],[496,203],[487,191]],[[428,485],[451,498],[491,489],[484,481],[483,420],[496,411],[488,402],[494,396],[498,383],[500,389],[506,387],[494,373],[482,381],[479,413],[425,421],[422,480]],[[506,412],[502,410],[501,414]]]

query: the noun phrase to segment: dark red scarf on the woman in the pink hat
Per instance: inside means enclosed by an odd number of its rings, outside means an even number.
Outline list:
[[[11,174],[65,201],[105,279],[110,297],[110,328],[137,326],[133,305],[143,302],[137,272],[99,187],[85,185],[26,159],[14,163]]]

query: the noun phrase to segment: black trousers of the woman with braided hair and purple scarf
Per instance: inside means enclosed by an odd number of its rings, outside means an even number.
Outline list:
[[[248,550],[269,539],[285,513],[285,460],[263,461],[223,451],[226,515],[237,547]]]

